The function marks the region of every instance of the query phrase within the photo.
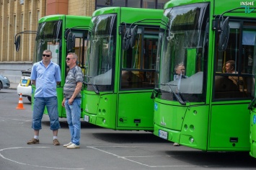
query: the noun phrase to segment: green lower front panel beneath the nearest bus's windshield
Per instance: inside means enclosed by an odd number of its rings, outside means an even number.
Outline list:
[[[155,102],[154,135],[159,130],[168,134],[168,140],[182,146],[207,150],[208,106],[175,106]]]

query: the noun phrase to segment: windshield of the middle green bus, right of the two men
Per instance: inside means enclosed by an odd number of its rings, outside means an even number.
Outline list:
[[[87,84],[105,87],[112,84],[115,19],[115,14],[92,18],[93,26],[87,42]]]

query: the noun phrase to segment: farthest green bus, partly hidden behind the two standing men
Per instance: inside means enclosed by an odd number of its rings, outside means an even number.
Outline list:
[[[85,71],[84,58],[90,20],[91,17],[85,16],[49,15],[39,19],[37,31],[19,32],[36,34],[33,63],[42,60],[43,50],[51,50],[52,61],[61,68],[61,84],[57,87],[59,117],[66,117],[65,107],[61,106],[63,85],[69,71],[69,67],[66,66],[66,55],[67,53],[76,53],[79,58],[78,66]],[[20,35],[15,37],[16,50],[19,50]],[[32,106],[34,93],[35,86],[32,85]],[[47,109],[45,109],[45,114],[47,114]]]

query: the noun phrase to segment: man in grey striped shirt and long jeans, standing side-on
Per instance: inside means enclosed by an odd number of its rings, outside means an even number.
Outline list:
[[[81,68],[76,66],[76,61],[77,55],[75,53],[69,53],[66,56],[66,65],[69,66],[69,73],[66,76],[63,87],[64,99],[62,106],[66,109],[71,141],[63,146],[69,149],[80,148],[81,86],[83,73],[81,72]]]

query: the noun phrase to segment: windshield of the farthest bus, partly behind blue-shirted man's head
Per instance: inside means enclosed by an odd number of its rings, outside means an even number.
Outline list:
[[[52,60],[61,66],[61,27],[62,21],[42,22],[38,25],[35,39],[34,63],[42,60],[43,50],[52,51]]]

